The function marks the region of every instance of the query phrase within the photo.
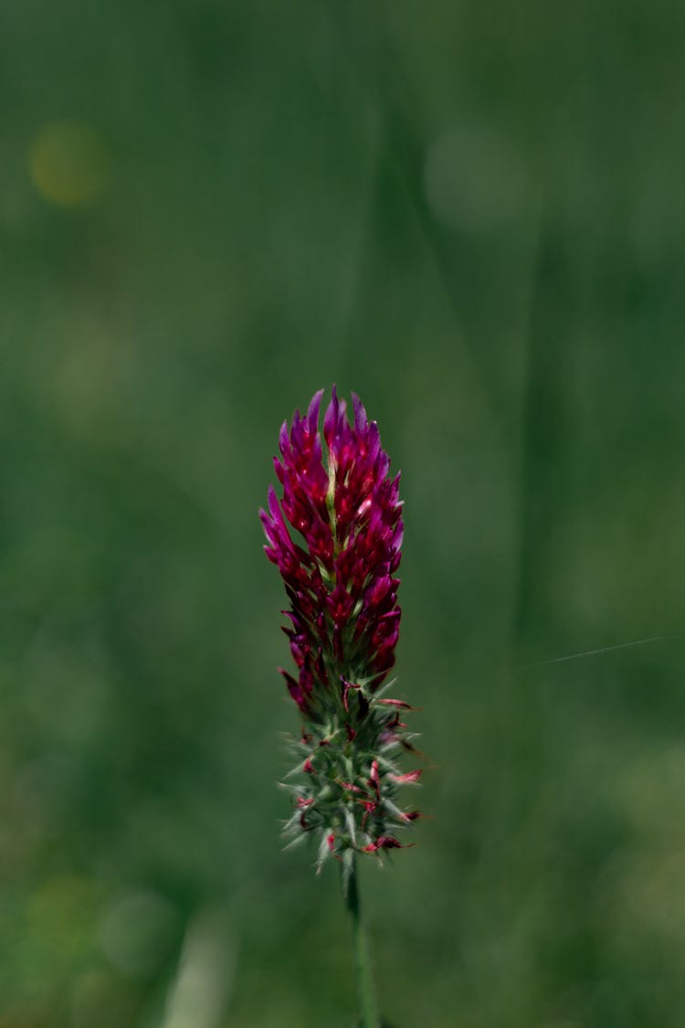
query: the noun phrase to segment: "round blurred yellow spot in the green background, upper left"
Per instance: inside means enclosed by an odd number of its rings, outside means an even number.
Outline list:
[[[38,192],[52,204],[89,204],[107,184],[109,160],[104,140],[85,122],[50,121],[31,146],[29,173]]]

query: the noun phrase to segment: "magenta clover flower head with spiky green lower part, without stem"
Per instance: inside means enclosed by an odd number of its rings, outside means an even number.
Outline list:
[[[274,458],[280,503],[269,488],[260,516],[265,552],[286,584],[283,611],[295,661],[281,669],[303,727],[288,776],[293,841],[318,837],[318,865],[333,855],[402,848],[395,833],[418,816],[399,806],[396,757],[414,751],[402,718],[412,707],[385,694],[399,631],[395,577],[403,521],[399,475],[389,475],[378,426],[352,394],[353,424],[335,387],[318,429],[322,391],[304,417],[296,411]]]

